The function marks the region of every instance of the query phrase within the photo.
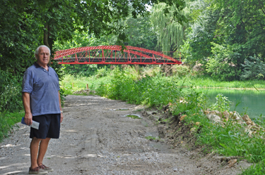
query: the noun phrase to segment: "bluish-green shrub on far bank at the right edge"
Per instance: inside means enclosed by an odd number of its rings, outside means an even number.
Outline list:
[[[265,79],[265,63],[257,57],[249,57],[249,60],[245,59],[243,73],[240,78],[246,79]]]

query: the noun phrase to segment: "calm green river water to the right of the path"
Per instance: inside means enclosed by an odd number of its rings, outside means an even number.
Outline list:
[[[216,96],[222,93],[228,97],[231,104],[231,111],[236,110],[240,115],[247,112],[251,118],[265,117],[265,91],[264,90],[241,90],[241,89],[197,89],[198,91],[207,93],[210,103],[216,103]],[[240,103],[239,103],[240,102]],[[235,107],[235,105],[237,107]]]

